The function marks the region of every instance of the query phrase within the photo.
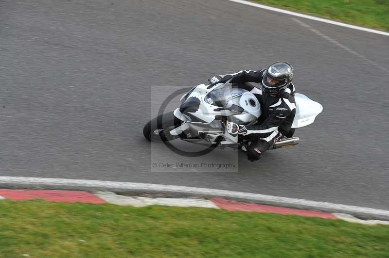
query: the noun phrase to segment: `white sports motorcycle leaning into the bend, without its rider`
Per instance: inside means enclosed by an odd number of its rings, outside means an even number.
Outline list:
[[[308,126],[322,112],[320,103],[303,94],[295,94],[296,115],[292,129]],[[170,142],[181,139],[186,142],[207,145],[210,148],[247,146],[243,137],[231,135],[226,124],[252,126],[261,116],[261,105],[251,92],[232,87],[230,81],[215,85],[199,84],[180,98],[181,105],[173,112],[159,114],[143,128],[149,141]],[[270,149],[297,145],[299,137],[284,136]]]

